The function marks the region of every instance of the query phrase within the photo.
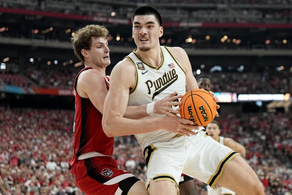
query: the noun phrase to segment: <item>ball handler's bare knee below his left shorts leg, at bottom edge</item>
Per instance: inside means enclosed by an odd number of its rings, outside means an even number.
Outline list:
[[[153,179],[150,180],[150,195],[178,195],[176,185],[169,180],[160,180],[155,181]]]

